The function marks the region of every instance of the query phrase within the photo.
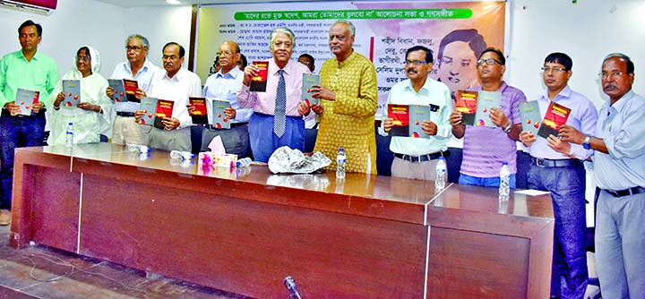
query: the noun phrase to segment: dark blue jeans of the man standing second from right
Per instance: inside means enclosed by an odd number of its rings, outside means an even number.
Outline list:
[[[551,192],[555,217],[551,295],[562,298],[583,298],[589,280],[585,181],[582,163],[572,167],[531,165],[527,174],[529,189]]]

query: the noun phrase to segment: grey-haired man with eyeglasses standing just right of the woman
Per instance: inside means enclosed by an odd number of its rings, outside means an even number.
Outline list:
[[[136,80],[142,92],[150,93],[150,81],[152,75],[160,71],[159,66],[152,64],[147,59],[150,44],[148,38],[139,34],[133,34],[125,39],[125,56],[127,60],[116,64],[110,79]],[[142,92],[138,92],[141,96]],[[114,90],[107,87],[106,95],[109,98],[114,96]],[[118,144],[147,144],[150,126],[134,122],[134,111],[139,108],[139,103],[118,102],[114,104],[116,117],[112,132],[102,132],[106,136],[112,136],[112,143]]]

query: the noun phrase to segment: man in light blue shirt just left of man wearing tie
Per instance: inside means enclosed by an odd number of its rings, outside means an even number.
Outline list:
[[[230,107],[224,109],[231,121],[230,129],[218,129],[212,125],[209,115],[209,124],[204,125],[202,131],[201,151],[210,151],[209,144],[213,138],[219,136],[224,149],[228,154],[235,154],[238,158],[250,156],[248,121],[253,114],[253,108],[241,108],[237,104],[237,90],[242,86],[244,72],[237,67],[240,59],[240,50],[236,42],[225,41],[219,47],[219,72],[213,73],[206,80],[203,88],[203,96],[209,99],[209,106],[212,107],[213,99],[225,99],[230,102]],[[210,109],[209,108],[209,109]],[[192,107],[189,107],[192,110]],[[211,110],[211,109],[210,109]]]

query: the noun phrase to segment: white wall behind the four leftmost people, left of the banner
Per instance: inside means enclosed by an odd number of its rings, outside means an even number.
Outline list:
[[[54,13],[43,15],[0,8],[0,56],[20,49],[18,27],[33,20],[43,26],[39,51],[51,56],[62,75],[73,67],[73,56],[83,45],[99,50],[100,73],[108,78],[117,63],[125,61],[125,38],[140,33],[150,41],[150,60],[161,65],[161,47],[176,41],[190,43],[190,6],[124,8],[94,0],[58,0]]]

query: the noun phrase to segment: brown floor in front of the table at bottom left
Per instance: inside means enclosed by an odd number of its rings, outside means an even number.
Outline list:
[[[6,287],[0,289],[0,299],[22,298],[20,293],[65,299],[246,298],[176,279],[146,278],[143,271],[43,246],[15,251],[8,240],[9,226],[0,226],[0,286]]]

